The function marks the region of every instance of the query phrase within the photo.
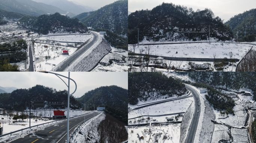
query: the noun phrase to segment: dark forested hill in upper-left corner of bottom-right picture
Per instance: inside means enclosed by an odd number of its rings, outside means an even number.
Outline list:
[[[148,99],[181,96],[187,92],[182,82],[159,72],[128,73],[129,104],[135,105]]]

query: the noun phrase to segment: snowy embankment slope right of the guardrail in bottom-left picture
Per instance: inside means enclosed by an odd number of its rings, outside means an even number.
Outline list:
[[[80,133],[76,132],[73,139],[71,138],[70,143],[97,143],[100,141],[100,134],[98,133],[98,125],[105,119],[106,115],[103,113],[100,113],[99,115],[95,116],[94,118],[91,118],[91,120],[86,121],[85,124],[83,124],[79,128]],[[74,129],[76,130],[76,128]],[[90,141],[87,140],[90,138]]]

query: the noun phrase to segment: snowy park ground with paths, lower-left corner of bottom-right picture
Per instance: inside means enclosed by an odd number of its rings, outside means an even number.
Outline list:
[[[179,143],[180,124],[128,127],[128,143]]]

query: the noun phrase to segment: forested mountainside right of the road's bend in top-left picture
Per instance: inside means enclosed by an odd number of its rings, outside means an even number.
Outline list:
[[[109,30],[126,36],[128,17],[128,0],[118,0],[100,9],[75,16],[85,25],[94,29]]]

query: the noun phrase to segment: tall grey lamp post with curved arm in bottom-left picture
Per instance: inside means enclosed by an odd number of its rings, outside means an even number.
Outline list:
[[[61,74],[58,74],[58,73],[53,73],[53,72],[50,72],[50,71],[40,71],[41,73],[51,73],[51,74],[55,74],[57,77],[59,77],[64,83],[65,85],[68,87],[68,105],[67,105],[67,108],[68,108],[68,113],[67,113],[67,143],[69,143],[69,98],[70,96],[72,96],[75,92],[76,92],[76,89],[77,89],[77,85],[76,85],[76,82],[70,78],[70,71],[68,71],[68,77],[67,76],[63,76]],[[68,79],[68,85],[67,83],[60,77],[65,77],[66,79]],[[76,88],[74,90],[73,93],[70,94],[70,80],[72,80],[74,82],[74,84],[76,85]]]

